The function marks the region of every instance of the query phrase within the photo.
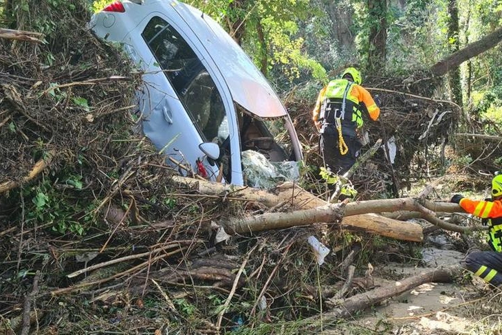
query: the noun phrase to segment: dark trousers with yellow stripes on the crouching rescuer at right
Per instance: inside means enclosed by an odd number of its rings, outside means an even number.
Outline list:
[[[487,283],[502,284],[502,252],[471,252],[466,258],[466,267]]]

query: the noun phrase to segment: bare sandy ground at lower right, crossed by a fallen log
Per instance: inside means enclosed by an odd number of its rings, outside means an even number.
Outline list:
[[[422,256],[424,267],[389,263],[380,272],[409,277],[424,268],[458,263],[464,257],[463,253],[455,250],[435,248],[424,248]],[[379,285],[393,282],[386,279],[375,281]],[[472,334],[472,329],[477,327],[479,321],[476,309],[480,287],[483,286],[479,281],[474,283],[477,285],[470,282],[466,285],[425,283],[385,301],[353,323],[384,334]]]

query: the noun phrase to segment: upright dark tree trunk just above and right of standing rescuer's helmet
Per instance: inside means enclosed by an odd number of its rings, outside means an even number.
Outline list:
[[[369,52],[368,66],[370,71],[385,67],[387,43],[387,1],[368,0],[369,11]]]

